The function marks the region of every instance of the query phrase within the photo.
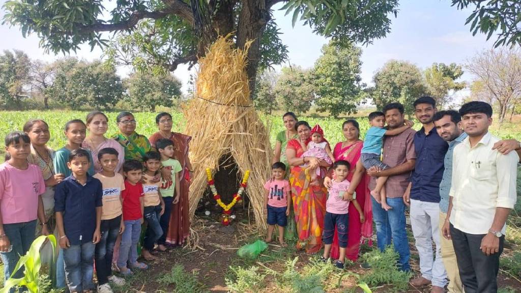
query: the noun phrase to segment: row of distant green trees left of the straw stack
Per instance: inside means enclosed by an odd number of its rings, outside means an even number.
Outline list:
[[[18,50],[0,54],[0,109],[29,109],[49,101],[60,107],[107,109],[124,101],[133,110],[170,107],[181,96],[181,82],[170,74],[134,72],[126,78],[100,60],[31,60]]]

